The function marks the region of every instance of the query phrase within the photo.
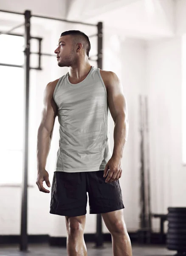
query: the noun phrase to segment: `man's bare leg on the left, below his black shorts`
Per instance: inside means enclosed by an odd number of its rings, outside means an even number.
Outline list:
[[[84,240],[86,215],[65,217],[67,227],[68,256],[87,256]]]

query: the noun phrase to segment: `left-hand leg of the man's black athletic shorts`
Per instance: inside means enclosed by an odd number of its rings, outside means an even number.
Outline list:
[[[76,217],[86,214],[85,173],[54,172],[51,189],[51,214]]]

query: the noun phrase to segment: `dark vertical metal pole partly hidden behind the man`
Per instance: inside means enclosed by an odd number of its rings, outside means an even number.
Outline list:
[[[98,59],[97,65],[100,69],[102,69],[102,49],[103,49],[103,23],[99,22],[97,25],[98,28]],[[102,233],[102,217],[101,214],[97,214],[96,218],[96,245],[95,247],[103,246],[103,233]]]

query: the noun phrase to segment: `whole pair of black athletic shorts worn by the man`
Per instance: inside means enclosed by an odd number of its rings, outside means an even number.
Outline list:
[[[50,213],[76,217],[87,213],[87,193],[90,214],[123,209],[119,180],[105,183],[104,171],[54,172]]]

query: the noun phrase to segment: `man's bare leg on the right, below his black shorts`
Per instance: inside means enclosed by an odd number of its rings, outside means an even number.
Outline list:
[[[102,217],[112,235],[114,256],[132,256],[132,247],[124,222],[123,209],[102,213]]]

